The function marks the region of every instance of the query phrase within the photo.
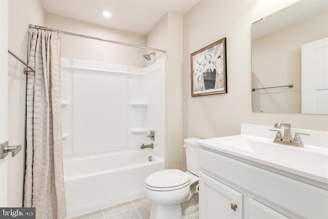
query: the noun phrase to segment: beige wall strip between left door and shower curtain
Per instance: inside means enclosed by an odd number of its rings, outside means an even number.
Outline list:
[[[9,1],[8,47],[27,62],[29,24],[44,25],[40,1]],[[8,206],[23,204],[25,172],[25,97],[24,66],[8,55],[8,138],[10,145],[21,144],[23,150],[8,159]]]

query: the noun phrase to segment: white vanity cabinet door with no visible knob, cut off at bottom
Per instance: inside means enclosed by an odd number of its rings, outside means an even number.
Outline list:
[[[250,206],[249,218],[252,219],[253,218],[254,219],[275,219],[275,218],[288,219],[289,218],[273,210],[272,208],[259,203],[253,198],[250,198],[249,206]]]

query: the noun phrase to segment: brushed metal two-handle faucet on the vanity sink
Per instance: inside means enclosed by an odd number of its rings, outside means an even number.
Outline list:
[[[292,140],[291,124],[289,124],[289,123],[276,123],[274,127],[279,128],[279,129],[281,127],[284,127],[283,136],[282,136],[280,130],[270,129],[270,131],[276,131],[277,132],[275,140],[273,142],[278,143],[278,144],[282,144],[282,145],[289,145],[289,146],[295,146],[295,147],[303,148],[304,145],[302,143],[302,140],[301,140],[301,137],[299,136],[299,134],[310,135],[310,134],[306,134],[306,133],[296,132],[295,135],[294,135],[294,138]]]

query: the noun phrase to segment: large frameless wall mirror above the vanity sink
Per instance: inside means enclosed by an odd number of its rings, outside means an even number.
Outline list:
[[[254,112],[328,114],[328,1],[299,1],[254,22]]]

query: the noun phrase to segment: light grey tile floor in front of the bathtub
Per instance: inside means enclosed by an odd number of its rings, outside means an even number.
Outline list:
[[[150,201],[146,197],[141,197],[71,219],[149,219],[150,207]]]

